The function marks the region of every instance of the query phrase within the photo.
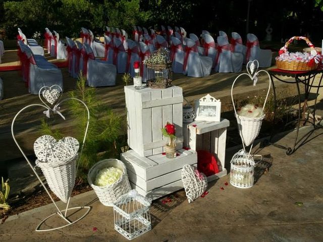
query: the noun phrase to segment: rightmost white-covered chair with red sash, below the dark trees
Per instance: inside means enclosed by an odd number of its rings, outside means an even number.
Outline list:
[[[271,67],[272,51],[260,49],[258,38],[254,34],[247,34],[246,63],[255,59],[259,62],[259,67]]]

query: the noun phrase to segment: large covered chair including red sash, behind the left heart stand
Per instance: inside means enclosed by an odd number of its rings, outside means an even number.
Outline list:
[[[49,63],[43,55],[34,54],[32,49],[18,40],[18,56],[21,62],[23,80],[31,94],[38,94],[43,86],[59,85],[63,89],[61,70]]]

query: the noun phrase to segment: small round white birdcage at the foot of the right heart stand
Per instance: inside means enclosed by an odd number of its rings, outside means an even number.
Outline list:
[[[236,188],[251,188],[255,162],[252,155],[239,150],[231,159],[230,184]]]

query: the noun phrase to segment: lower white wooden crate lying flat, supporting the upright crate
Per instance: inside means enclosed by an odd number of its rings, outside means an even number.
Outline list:
[[[182,189],[183,166],[197,163],[194,150],[180,149],[177,153],[179,156],[169,159],[163,154],[141,157],[129,150],[121,154],[121,160],[127,167],[132,187],[141,195],[156,199]]]

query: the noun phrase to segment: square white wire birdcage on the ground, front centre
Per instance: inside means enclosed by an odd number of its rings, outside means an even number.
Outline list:
[[[136,190],[120,197],[114,204],[115,229],[129,240],[149,231],[150,203]]]

